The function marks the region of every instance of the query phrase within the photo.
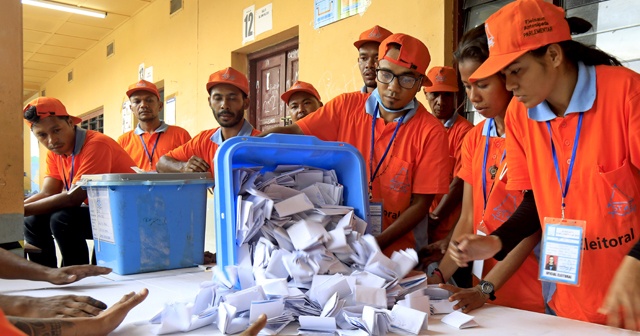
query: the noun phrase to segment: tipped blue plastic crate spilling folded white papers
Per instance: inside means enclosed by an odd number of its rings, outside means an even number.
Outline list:
[[[312,136],[270,134],[264,138],[234,137],[226,140],[214,158],[215,223],[217,264],[237,264],[236,208],[239,185],[233,181],[233,169],[264,166],[263,172],[278,165],[305,165],[334,169],[344,186],[344,205],[367,219],[369,197],[366,171],[360,152],[343,142],[321,141]]]

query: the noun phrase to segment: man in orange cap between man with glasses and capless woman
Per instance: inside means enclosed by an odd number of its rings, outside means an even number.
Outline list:
[[[443,240],[449,235],[449,232],[460,217],[463,183],[457,175],[461,166],[462,141],[467,132],[473,128],[473,124],[456,113],[454,95],[458,92],[458,82],[455,70],[449,66],[433,67],[427,73],[427,78],[433,85],[424,87],[423,91],[429,102],[431,113],[447,130],[449,157],[453,168],[449,193],[443,196],[436,196],[429,209],[429,242],[442,241],[442,246],[429,245],[429,251],[442,257],[442,254],[438,252],[446,251],[449,245],[448,241]],[[420,242],[418,232],[414,233],[416,234],[416,240]],[[426,232],[421,232],[421,234],[424,233]],[[426,242],[426,239],[424,242]]]

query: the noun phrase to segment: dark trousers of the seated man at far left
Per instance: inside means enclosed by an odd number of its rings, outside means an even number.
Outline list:
[[[24,237],[27,243],[42,250],[41,253],[29,253],[29,259],[40,265],[58,267],[54,238],[62,254],[63,266],[88,264],[86,239],[93,238],[89,208],[71,207],[25,217]]]

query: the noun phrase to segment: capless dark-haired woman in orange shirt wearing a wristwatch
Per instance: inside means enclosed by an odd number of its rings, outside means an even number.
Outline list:
[[[455,241],[465,233],[486,235],[500,227],[518,207],[523,194],[506,190],[504,117],[512,95],[499,75],[469,82],[469,76],[489,56],[484,26],[467,32],[454,56],[469,101],[487,118],[467,133],[462,145],[462,168],[458,177],[464,180],[464,195],[462,214],[453,233]],[[459,302],[454,308],[462,308],[467,313],[492,300],[503,306],[544,312],[542,288],[537,279],[538,262],[531,253],[538,240],[539,235],[526,238],[502,262],[480,261],[482,264],[474,274],[482,280],[475,287],[460,289],[442,285],[455,292],[451,300]],[[447,253],[429,282],[446,282],[456,269]]]

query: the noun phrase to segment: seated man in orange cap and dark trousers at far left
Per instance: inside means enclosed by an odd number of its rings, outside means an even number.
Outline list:
[[[135,163],[113,139],[76,124],[55,98],[40,97],[23,110],[25,123],[49,149],[47,171],[39,193],[24,201],[24,235],[27,243],[42,250],[29,253],[38,264],[57,267],[56,239],[64,266],[89,262],[86,239],[92,238],[87,192],[75,186],[85,174],[133,173]]]

